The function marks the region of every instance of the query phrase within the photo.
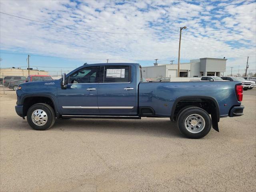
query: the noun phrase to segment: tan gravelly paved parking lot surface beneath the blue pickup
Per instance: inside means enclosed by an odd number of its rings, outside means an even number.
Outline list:
[[[15,103],[0,95],[1,192],[256,191],[255,88],[243,116],[198,140],[169,118],[59,119],[36,131]]]

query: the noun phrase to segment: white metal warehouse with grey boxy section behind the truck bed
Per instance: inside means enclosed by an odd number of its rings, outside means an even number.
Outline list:
[[[178,64],[154,64],[142,67],[144,78],[178,77]],[[200,58],[180,64],[180,77],[220,76],[226,71],[226,59]]]

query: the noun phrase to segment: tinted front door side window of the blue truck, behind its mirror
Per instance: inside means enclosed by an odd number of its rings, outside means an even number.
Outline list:
[[[68,83],[96,83],[100,66],[86,67],[69,76]]]

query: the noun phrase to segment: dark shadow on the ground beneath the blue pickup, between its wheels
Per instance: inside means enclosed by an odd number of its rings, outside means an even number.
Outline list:
[[[125,119],[58,119],[52,130],[89,131],[108,134],[151,135],[156,137],[184,138],[176,123],[169,118],[125,120]]]

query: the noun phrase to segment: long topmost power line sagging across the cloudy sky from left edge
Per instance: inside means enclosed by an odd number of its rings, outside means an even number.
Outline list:
[[[62,26],[62,25],[57,25],[57,24],[52,24],[52,23],[46,23],[46,22],[42,22],[42,21],[37,21],[37,20],[32,20],[32,19],[20,17],[20,16],[11,15],[11,14],[4,13],[4,12],[0,12],[0,13],[6,14],[6,15],[9,15],[9,16],[12,16],[12,17],[25,19],[25,20],[29,20],[29,21],[33,21],[33,22],[39,22],[39,23],[43,23],[43,24],[48,24],[48,25],[52,25],[52,26],[58,26],[58,27],[64,27],[64,28],[69,28],[69,29],[76,29],[76,30],[83,30],[83,31],[88,31],[88,32],[96,32],[96,33],[123,34],[123,35],[143,35],[143,34],[158,34],[158,33],[170,32],[170,31],[162,31],[162,32],[152,32],[152,33],[115,33],[115,32],[94,31],[94,30],[81,29],[81,28]]]

